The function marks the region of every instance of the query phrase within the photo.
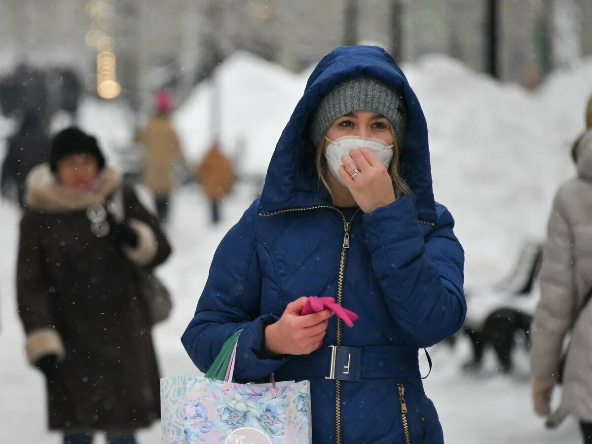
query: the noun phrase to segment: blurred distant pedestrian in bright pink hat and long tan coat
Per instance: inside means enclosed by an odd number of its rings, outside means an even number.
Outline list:
[[[160,91],[155,98],[156,115],[138,135],[138,141],[146,150],[144,185],[155,197],[156,213],[162,222],[168,217],[170,193],[175,184],[174,167],[183,163],[179,138],[170,122],[172,104],[172,95]]]

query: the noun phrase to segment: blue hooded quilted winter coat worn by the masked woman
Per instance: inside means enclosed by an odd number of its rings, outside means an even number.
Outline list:
[[[401,176],[413,198],[359,212],[346,249],[342,214],[324,207],[332,201],[318,180],[307,128],[320,99],[355,76],[377,78],[404,96]],[[426,121],[403,72],[378,47],[340,47],[310,76],[278,141],[260,200],[220,243],[182,342],[205,372],[224,341],[244,329],[237,379],[258,381],[274,372],[279,380],[309,379],[314,444],[443,443],[436,410],[423,391],[418,350],[451,336],[464,321],[464,252],[453,226],[452,215],[433,198]],[[359,314],[354,326],[339,326],[338,337],[333,316],[323,349],[309,356],[266,356],[265,326],[301,296],[336,297],[342,259],[342,305]],[[332,357],[327,346],[338,342],[352,349],[340,349],[336,372],[351,378],[342,369],[351,364],[355,381],[325,378]]]

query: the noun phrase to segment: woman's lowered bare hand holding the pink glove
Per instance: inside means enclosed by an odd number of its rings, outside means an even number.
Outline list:
[[[286,307],[274,324],[265,327],[265,349],[275,355],[308,355],[323,340],[331,310],[300,316],[307,298],[301,297]]]

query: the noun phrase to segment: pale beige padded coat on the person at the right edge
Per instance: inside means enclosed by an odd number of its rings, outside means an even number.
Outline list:
[[[592,304],[578,313],[592,288],[592,131],[578,144],[578,176],[559,189],[543,250],[541,296],[532,327],[535,377],[556,375],[564,337],[573,326],[561,406],[549,421],[568,414],[592,422]]]

